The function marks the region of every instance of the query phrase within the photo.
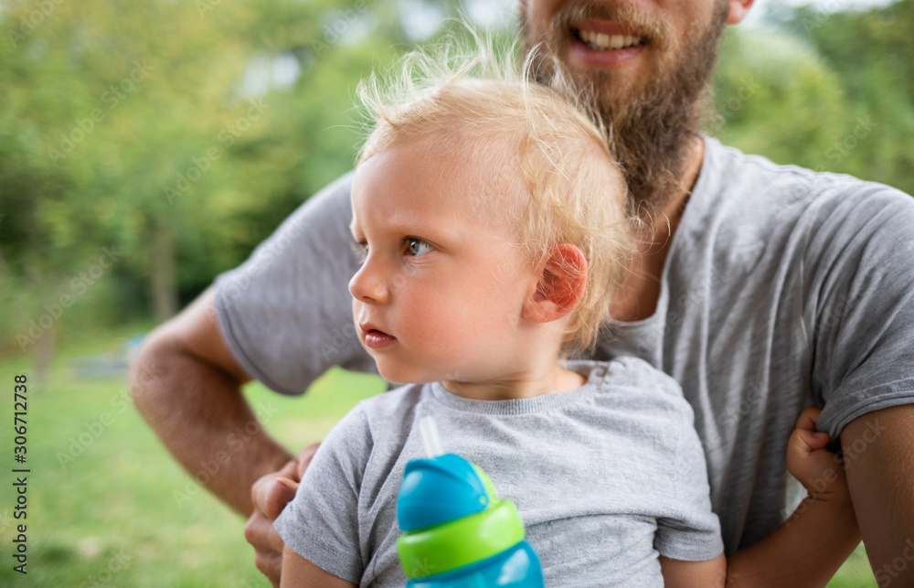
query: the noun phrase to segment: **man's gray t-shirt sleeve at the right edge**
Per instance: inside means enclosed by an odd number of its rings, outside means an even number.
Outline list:
[[[914,402],[914,198],[861,183],[825,219],[813,393],[833,439],[866,412]]]

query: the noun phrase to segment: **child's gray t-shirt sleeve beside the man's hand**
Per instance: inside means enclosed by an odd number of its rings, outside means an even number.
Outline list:
[[[293,551],[353,583],[364,572],[358,495],[371,447],[366,414],[357,405],[327,434],[292,502],[273,523]]]

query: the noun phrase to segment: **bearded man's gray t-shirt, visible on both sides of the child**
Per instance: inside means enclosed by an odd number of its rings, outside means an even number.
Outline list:
[[[351,182],[311,198],[218,277],[228,346],[273,390],[301,394],[335,365],[372,367],[346,289]],[[617,326],[598,357],[636,355],[682,386],[728,552],[792,510],[785,455],[803,407],[824,406],[820,428],[834,436],[914,402],[912,228],[914,199],[894,188],[705,140],[656,311]]]

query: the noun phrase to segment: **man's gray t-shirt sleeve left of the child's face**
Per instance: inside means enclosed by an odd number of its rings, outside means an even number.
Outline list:
[[[216,313],[228,347],[250,376],[301,394],[333,366],[373,370],[356,337],[349,279],[349,192],[341,177],[298,208],[238,268],[216,279]]]

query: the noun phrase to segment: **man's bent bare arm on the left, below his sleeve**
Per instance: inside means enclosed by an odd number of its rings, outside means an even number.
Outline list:
[[[213,288],[146,337],[131,371],[133,401],[168,451],[245,516],[254,482],[292,459],[241,395],[249,380],[219,329]]]

